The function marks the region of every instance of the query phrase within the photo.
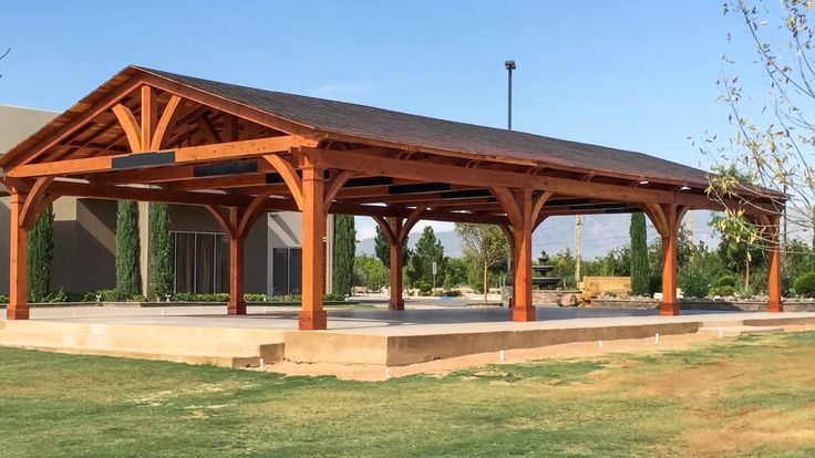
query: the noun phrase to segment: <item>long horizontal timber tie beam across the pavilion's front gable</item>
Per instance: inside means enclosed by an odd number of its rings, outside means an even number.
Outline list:
[[[174,153],[175,155],[175,160],[173,164],[218,162],[237,159],[241,157],[262,156],[268,155],[269,153],[285,153],[293,146],[298,146],[309,142],[310,140],[306,140],[300,137],[282,136],[221,143],[215,145],[189,146],[172,150],[172,153]],[[132,154],[124,154],[116,156],[65,159],[53,163],[27,164],[8,170],[7,176],[24,178],[50,175],[69,176],[110,171],[113,169],[113,160],[130,158],[132,156]],[[143,168],[166,167],[167,165],[168,164],[145,165],[143,166]]]

